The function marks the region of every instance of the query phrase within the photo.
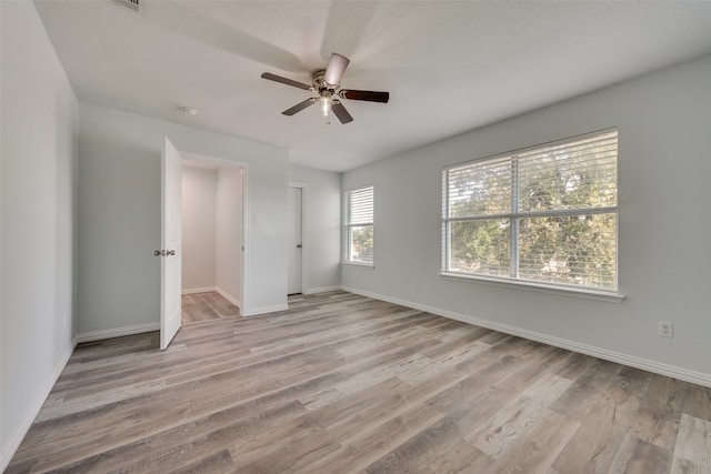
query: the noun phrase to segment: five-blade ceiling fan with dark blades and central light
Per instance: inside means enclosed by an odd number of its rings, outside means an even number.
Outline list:
[[[326,70],[314,71],[312,74],[313,84],[304,84],[303,82],[294,81],[281,75],[272,74],[271,72],[264,72],[261,77],[269,79],[270,81],[281,82],[282,84],[292,85],[294,88],[303,89],[304,91],[312,91],[318,93],[318,97],[309,98],[302,102],[299,102],[294,107],[284,110],[284,115],[293,115],[297,112],[302,111],[309,105],[313,105],[319,102],[321,105],[321,113],[328,118],[332,111],[341,123],[352,122],[353,118],[346,110],[340,99],[349,100],[365,100],[369,102],[382,102],[387,103],[390,99],[389,92],[377,91],[359,91],[353,89],[341,89],[341,77],[348,68],[350,60],[344,56],[338,53],[331,53],[331,59]]]

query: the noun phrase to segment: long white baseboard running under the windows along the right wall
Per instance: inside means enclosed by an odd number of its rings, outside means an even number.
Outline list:
[[[661,362],[637,357],[634,355],[623,354],[615,351],[609,351],[607,349],[600,349],[593,345],[581,344],[579,342],[554,337],[548,334],[542,334],[534,331],[510,326],[508,324],[500,324],[493,321],[481,320],[479,317],[470,316],[468,314],[461,314],[461,313],[455,313],[453,311],[441,310],[439,307],[413,303],[411,301],[400,300],[398,297],[390,297],[382,294],[359,290],[356,288],[341,285],[341,290],[348,291],[350,293],[356,293],[363,296],[372,297],[374,300],[387,301],[388,303],[394,303],[401,306],[412,307],[413,310],[437,314],[438,316],[449,317],[451,320],[461,321],[463,323],[473,324],[473,325],[487,327],[493,331],[499,331],[502,333],[515,335],[519,337],[528,339],[530,341],[542,342],[543,344],[567,349],[569,351],[579,352],[581,354],[591,355],[593,357],[603,359],[605,361],[615,362],[622,365],[629,365],[631,367],[641,369],[643,371],[652,372],[655,374],[670,376],[672,379],[678,379],[684,382],[691,382],[698,385],[711,387],[711,374],[690,371],[687,369],[677,367],[674,365],[668,365]]]

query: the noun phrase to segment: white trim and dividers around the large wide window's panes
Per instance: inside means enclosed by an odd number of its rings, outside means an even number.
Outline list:
[[[519,180],[513,180],[512,181],[512,188],[510,191],[510,196],[511,196],[511,210],[510,212],[507,213],[499,213],[499,214],[483,214],[483,215],[477,215],[477,216],[468,216],[468,218],[449,218],[448,213],[449,213],[449,209],[450,209],[450,192],[449,192],[449,172],[452,169],[458,169],[458,168],[463,168],[467,165],[474,165],[479,162],[487,162],[487,161],[494,161],[497,159],[510,159],[511,161],[511,165],[512,167],[517,167],[518,165],[518,160],[517,160],[517,155],[520,154],[524,154],[527,152],[530,151],[534,151],[534,150],[539,150],[539,149],[545,149],[545,148],[550,148],[550,147],[555,147],[555,145],[561,145],[561,144],[565,144],[565,143],[572,143],[575,141],[581,141],[584,140],[587,138],[593,138],[597,135],[604,135],[608,133],[612,133],[615,132],[618,133],[618,128],[617,127],[612,127],[612,128],[608,128],[608,129],[602,129],[602,130],[598,130],[598,131],[593,131],[590,133],[583,133],[583,134],[579,134],[579,135],[574,135],[574,137],[569,137],[565,139],[561,139],[561,140],[554,140],[554,141],[550,141],[550,142],[545,142],[545,143],[540,143],[533,147],[527,147],[527,148],[522,148],[522,149],[518,149],[518,150],[512,150],[512,151],[508,151],[504,153],[497,153],[497,154],[492,154],[492,155],[488,155],[488,157],[482,157],[482,158],[478,158],[474,160],[469,160],[469,161],[464,161],[461,163],[454,163],[454,164],[450,164],[450,165],[445,165],[442,167],[442,214],[441,214],[441,263],[440,263],[440,276],[447,278],[447,279],[457,279],[457,280],[467,280],[467,281],[473,281],[473,282],[482,282],[482,283],[489,283],[489,284],[494,284],[494,285],[503,285],[503,286],[510,286],[510,285],[514,285],[514,286],[519,286],[522,288],[524,290],[532,290],[532,291],[542,291],[545,293],[554,293],[554,294],[564,294],[564,295],[575,295],[575,296],[580,296],[580,297],[585,297],[585,299],[593,299],[593,300],[603,300],[603,301],[612,301],[612,302],[621,302],[624,299],[624,295],[622,293],[619,292],[619,280],[620,280],[620,275],[619,275],[619,219],[620,219],[620,205],[619,205],[619,198],[617,200],[617,205],[614,206],[604,206],[604,208],[577,208],[577,209],[562,209],[562,210],[558,210],[558,211],[537,211],[537,212],[521,212],[518,209],[518,198],[519,198],[519,192],[518,192],[518,185],[519,185]],[[615,137],[617,143],[618,143],[618,157],[619,157],[619,133]],[[615,157],[615,177],[617,178],[617,183],[619,184],[619,161],[618,161],[618,157]],[[518,174],[518,170],[513,171],[515,172],[515,174]],[[513,173],[512,172],[512,173]],[[619,186],[618,184],[615,184],[617,192],[619,194]],[[451,254],[451,235],[449,232],[449,224],[451,222],[475,222],[475,221],[483,221],[483,220],[497,220],[497,219],[501,219],[501,220],[509,220],[509,222],[511,223],[511,232],[509,234],[509,245],[511,248],[511,254],[512,255],[517,255],[517,259],[511,259],[511,268],[513,269],[515,265],[518,265],[518,244],[519,244],[519,239],[518,239],[518,221],[520,219],[525,219],[525,218],[550,218],[550,216],[573,216],[573,215],[594,215],[594,214],[614,214],[614,218],[617,220],[617,225],[615,225],[615,235],[614,235],[614,241],[615,241],[615,255],[614,255],[614,260],[615,260],[615,288],[614,289],[604,289],[604,288],[597,288],[597,286],[582,286],[582,285],[574,285],[574,284],[567,284],[567,283],[554,283],[554,282],[545,282],[545,281],[538,281],[538,280],[528,280],[524,278],[518,278],[518,276],[499,276],[499,275],[485,275],[485,274],[475,274],[475,273],[465,273],[465,272],[455,272],[455,271],[449,271],[448,270],[448,263],[450,261],[450,254]],[[513,271],[510,272],[510,274],[513,273]]]

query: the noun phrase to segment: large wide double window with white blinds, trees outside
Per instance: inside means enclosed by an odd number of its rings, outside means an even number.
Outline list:
[[[617,291],[618,132],[442,172],[442,271]]]

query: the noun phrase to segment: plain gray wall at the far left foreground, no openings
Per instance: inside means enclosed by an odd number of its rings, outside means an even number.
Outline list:
[[[79,105],[32,2],[0,2],[0,471],[69,359]]]

